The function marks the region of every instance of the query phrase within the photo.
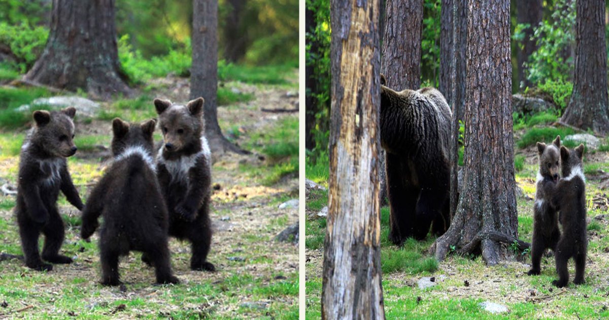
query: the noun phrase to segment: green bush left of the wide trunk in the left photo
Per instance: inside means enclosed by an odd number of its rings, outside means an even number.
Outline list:
[[[27,23],[0,23],[0,44],[10,48],[16,59],[13,67],[21,73],[25,73],[36,62],[48,36],[49,30],[46,27],[29,26]]]

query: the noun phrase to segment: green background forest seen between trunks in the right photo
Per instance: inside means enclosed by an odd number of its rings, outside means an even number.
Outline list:
[[[445,18],[441,15],[442,2],[442,0],[423,1],[421,87],[438,87],[440,82],[442,52],[440,30],[442,19]],[[609,5],[609,2],[607,4]],[[307,176],[322,179],[327,176],[328,170],[331,84],[329,5],[329,0],[306,1]],[[384,5],[385,0],[382,0],[381,7]],[[605,12],[605,20],[607,20],[609,16],[607,9]],[[510,16],[512,92],[524,96],[542,97],[555,105],[552,110],[555,113],[552,115],[553,118],[560,118],[573,88],[576,1],[512,0]],[[380,20],[379,31],[382,37],[383,9]],[[605,34],[609,35],[609,28],[606,29]],[[521,118],[523,115],[515,113],[514,124],[523,120]]]

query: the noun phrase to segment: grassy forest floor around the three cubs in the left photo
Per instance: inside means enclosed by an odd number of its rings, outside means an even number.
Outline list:
[[[298,113],[261,111],[295,107],[297,71],[278,82],[221,84],[224,96],[219,99],[225,105],[218,108],[220,127],[252,154],[213,155],[214,235],[208,261],[217,272],[191,271],[189,244],[172,239],[179,285],[154,285],[153,269],[132,252],[119,264],[124,286],[101,286],[97,233],[90,243],[81,240],[80,212],[60,196],[66,224],[61,252],[74,257],[74,263],[37,272],[16,259],[0,261],[0,318],[297,318],[298,246],[275,236],[298,221],[298,208],[278,208],[298,198]],[[138,98],[103,102],[93,117],[77,114],[79,152],[69,158],[69,170],[83,202],[107,167],[111,119],[155,117],[152,99],[157,96],[186,102],[188,79],[155,79],[141,91]],[[27,127],[0,131],[0,185],[15,185]],[[155,137],[160,140],[158,133]],[[0,194],[0,252],[21,255],[14,205],[14,195]]]

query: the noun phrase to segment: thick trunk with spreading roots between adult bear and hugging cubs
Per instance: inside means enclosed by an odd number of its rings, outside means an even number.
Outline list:
[[[493,23],[488,23],[493,21]],[[518,238],[512,135],[510,2],[468,1],[463,186],[448,231],[431,247],[481,252],[488,265],[505,258],[501,241]],[[501,237],[499,237],[501,238]],[[479,241],[476,246],[468,246]]]

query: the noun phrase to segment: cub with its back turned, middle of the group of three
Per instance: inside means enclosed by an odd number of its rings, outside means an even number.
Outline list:
[[[167,208],[153,162],[155,120],[141,125],[112,122],[114,163],[97,183],[82,213],[81,236],[99,231],[102,285],[119,285],[118,260],[130,251],[144,252],[156,269],[157,283],[179,283],[171,273],[167,244]]]

